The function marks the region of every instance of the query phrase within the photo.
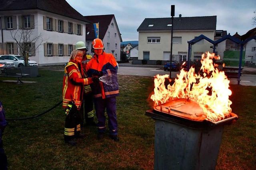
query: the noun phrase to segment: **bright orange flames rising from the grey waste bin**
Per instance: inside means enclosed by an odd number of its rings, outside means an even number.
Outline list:
[[[172,101],[176,98],[186,98],[196,101],[202,107],[206,120],[217,122],[230,117],[232,102],[229,96],[227,76],[213,64],[214,53],[207,52],[202,55],[200,73],[195,73],[193,67],[188,71],[182,69],[174,84],[165,85],[169,75],[154,77],[154,94],[150,97],[154,105]]]

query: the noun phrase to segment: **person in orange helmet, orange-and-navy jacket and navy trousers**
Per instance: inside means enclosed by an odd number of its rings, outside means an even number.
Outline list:
[[[98,119],[98,139],[102,139],[106,131],[106,109],[110,138],[119,141],[116,117],[116,96],[119,95],[116,59],[112,54],[103,51],[101,39],[96,38],[92,41],[92,49],[94,55],[86,65],[86,72],[95,80],[92,91]],[[108,83],[95,79],[103,75]]]

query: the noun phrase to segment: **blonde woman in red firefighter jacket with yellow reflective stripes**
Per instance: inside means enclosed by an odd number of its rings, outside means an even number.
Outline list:
[[[75,138],[83,138],[80,134],[81,105],[84,85],[92,84],[92,78],[85,78],[83,74],[82,59],[84,52],[72,51],[70,61],[64,68],[63,78],[63,104],[66,109],[66,122],[64,140],[70,145],[76,145]]]

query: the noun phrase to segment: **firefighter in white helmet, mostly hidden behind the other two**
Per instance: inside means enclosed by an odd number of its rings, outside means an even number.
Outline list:
[[[86,64],[92,59],[91,55],[87,55],[87,48],[85,46],[85,43],[83,41],[78,41],[76,43],[76,49],[83,51],[84,52],[84,58],[82,59],[83,63],[83,68],[85,70]],[[88,77],[86,72],[84,71],[85,77]],[[85,125],[87,126],[96,126],[96,123],[94,122],[94,114],[93,114],[93,97],[92,97],[92,88],[90,85],[85,85],[84,86],[84,96],[83,96],[83,106],[81,109],[84,109],[84,117],[82,114],[82,121],[81,121],[81,126],[84,123],[85,119]]]

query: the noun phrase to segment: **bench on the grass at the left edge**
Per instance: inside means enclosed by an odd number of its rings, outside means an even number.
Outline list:
[[[17,77],[17,84],[23,83],[20,78],[28,76],[30,74],[24,74],[21,67],[4,67],[0,68],[1,77]]]

